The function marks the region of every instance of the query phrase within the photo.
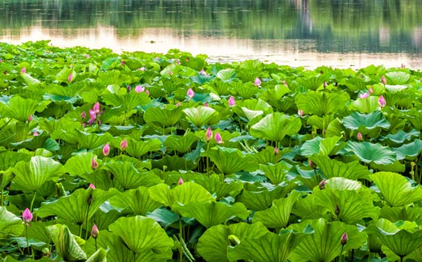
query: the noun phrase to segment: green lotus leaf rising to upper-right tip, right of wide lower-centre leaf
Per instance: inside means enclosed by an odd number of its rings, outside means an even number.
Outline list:
[[[294,202],[300,195],[298,191],[292,191],[287,198],[274,200],[271,208],[255,212],[253,222],[262,222],[267,228],[284,228],[289,222]]]

